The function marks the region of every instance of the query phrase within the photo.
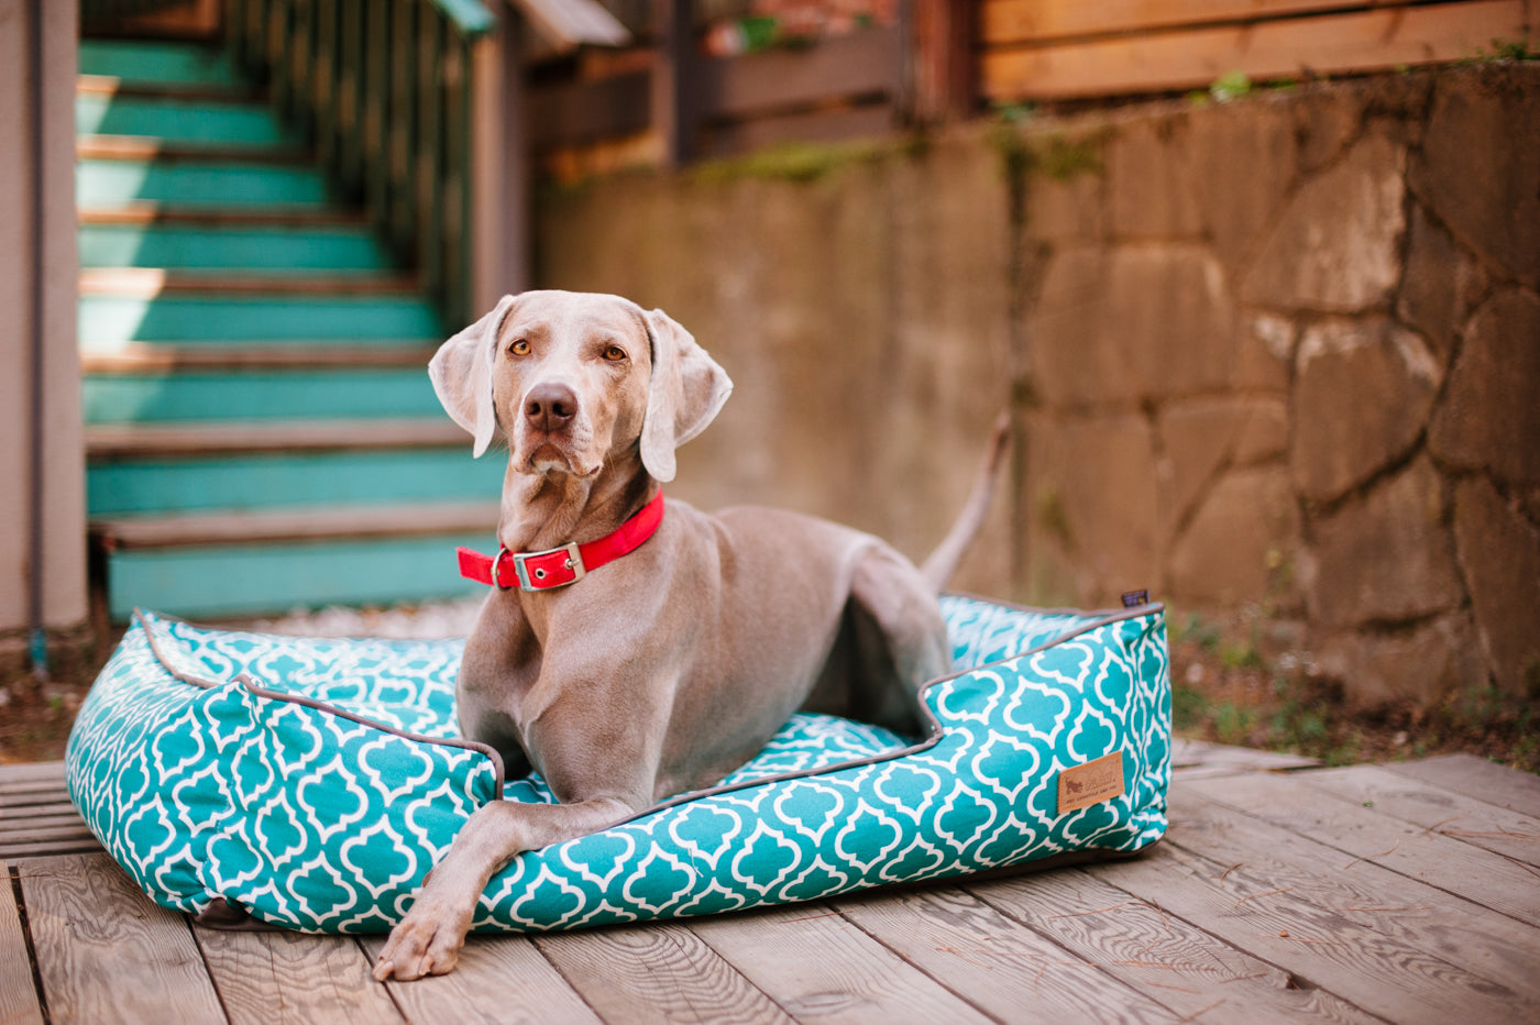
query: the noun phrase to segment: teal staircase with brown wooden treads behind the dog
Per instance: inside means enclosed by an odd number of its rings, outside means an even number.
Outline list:
[[[86,491],[106,609],[459,597],[502,466],[427,362],[439,312],[217,48],[83,40]]]

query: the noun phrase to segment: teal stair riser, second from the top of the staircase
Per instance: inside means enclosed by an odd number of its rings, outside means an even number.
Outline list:
[[[162,97],[75,97],[75,132],[151,135],[168,143],[294,146],[299,137],[263,103],[211,103]]]

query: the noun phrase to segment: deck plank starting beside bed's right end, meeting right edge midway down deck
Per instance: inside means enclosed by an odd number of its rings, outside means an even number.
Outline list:
[[[1307,777],[1246,777],[1195,782],[1192,790],[1237,811],[1277,826],[1297,830],[1343,851],[1354,860],[1374,862],[1391,871],[1448,890],[1472,903],[1540,925],[1540,873],[1517,859],[1472,850],[1440,831],[1418,828],[1391,814],[1380,814],[1352,796],[1321,799],[1307,790]],[[1531,830],[1531,846],[1540,834]],[[1458,865],[1458,871],[1451,871]]]

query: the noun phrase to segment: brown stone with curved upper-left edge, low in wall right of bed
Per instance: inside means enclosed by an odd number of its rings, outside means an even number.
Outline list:
[[[1292,603],[1300,523],[1287,472],[1257,466],[1224,474],[1170,549],[1172,600],[1203,608]]]

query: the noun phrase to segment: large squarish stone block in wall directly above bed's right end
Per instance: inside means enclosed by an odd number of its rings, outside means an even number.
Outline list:
[[[1019,499],[1027,593],[1101,605],[1157,586],[1155,492],[1144,417],[1030,417]]]

